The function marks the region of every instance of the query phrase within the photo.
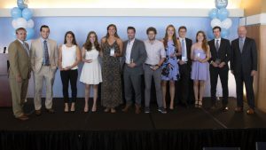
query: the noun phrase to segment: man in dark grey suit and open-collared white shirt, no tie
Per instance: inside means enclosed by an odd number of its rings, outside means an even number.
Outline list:
[[[126,107],[123,112],[128,112],[132,105],[132,86],[135,91],[136,114],[140,113],[141,107],[141,75],[143,75],[143,63],[147,57],[145,43],[136,39],[136,29],[129,27],[127,29],[129,40],[123,43],[123,78]]]

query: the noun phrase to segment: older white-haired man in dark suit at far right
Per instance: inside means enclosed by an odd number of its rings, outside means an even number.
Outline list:
[[[253,78],[257,73],[257,49],[254,39],[246,37],[246,27],[238,28],[239,38],[231,42],[231,73],[237,84],[238,107],[235,112],[243,111],[243,82],[249,106],[246,114],[254,114]]]

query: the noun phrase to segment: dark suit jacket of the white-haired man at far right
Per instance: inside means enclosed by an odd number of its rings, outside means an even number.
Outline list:
[[[231,42],[231,70],[234,74],[250,75],[257,70],[257,49],[254,39],[246,37],[242,53],[239,48],[239,38]]]

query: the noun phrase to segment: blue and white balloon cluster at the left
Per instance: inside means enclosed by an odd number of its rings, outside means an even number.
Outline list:
[[[11,10],[12,15],[12,27],[26,28],[27,40],[33,38],[35,34],[34,26],[35,22],[31,19],[33,16],[32,10],[27,8],[27,0],[17,0],[18,7],[14,7]]]

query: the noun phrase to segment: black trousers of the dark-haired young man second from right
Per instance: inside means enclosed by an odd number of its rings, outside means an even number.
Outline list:
[[[216,87],[218,82],[218,75],[220,76],[223,88],[223,106],[227,106],[228,104],[228,71],[229,68],[227,65],[222,68],[213,66],[209,67],[212,106],[214,106],[216,102]]]

